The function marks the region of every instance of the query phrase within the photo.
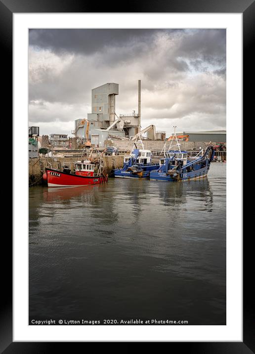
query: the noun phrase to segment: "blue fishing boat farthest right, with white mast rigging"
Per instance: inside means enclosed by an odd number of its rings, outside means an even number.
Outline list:
[[[172,148],[174,138],[177,142],[174,145],[177,146],[176,149]],[[206,177],[214,156],[213,145],[208,145],[205,151],[201,149],[195,157],[188,157],[188,152],[180,149],[175,131],[174,138],[165,157],[160,160],[159,168],[150,173],[150,179],[175,182]]]

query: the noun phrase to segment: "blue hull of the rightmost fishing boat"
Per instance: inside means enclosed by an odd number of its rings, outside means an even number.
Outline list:
[[[180,174],[178,178],[173,178],[167,175],[165,172],[152,171],[150,173],[150,179],[156,180],[164,180],[169,182],[178,182],[190,179],[197,179],[206,177],[208,174],[210,166],[203,167],[202,169],[198,169],[196,171],[191,171],[187,173]]]

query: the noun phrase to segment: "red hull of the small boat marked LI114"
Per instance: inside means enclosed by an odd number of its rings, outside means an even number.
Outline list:
[[[104,176],[78,176],[66,172],[45,169],[48,187],[73,187],[91,184],[100,184],[107,182],[108,178]]]

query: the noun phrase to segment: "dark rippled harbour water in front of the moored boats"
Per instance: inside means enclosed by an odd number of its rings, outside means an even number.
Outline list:
[[[29,318],[226,323],[226,164],[29,189]]]

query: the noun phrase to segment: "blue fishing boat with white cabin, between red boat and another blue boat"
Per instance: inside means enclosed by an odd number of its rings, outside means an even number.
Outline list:
[[[151,171],[159,167],[159,163],[151,162],[152,153],[144,149],[141,136],[140,140],[134,142],[134,147],[129,155],[124,156],[124,166],[122,169],[114,170],[114,177],[118,178],[149,178]],[[141,145],[141,149],[138,148]]]

